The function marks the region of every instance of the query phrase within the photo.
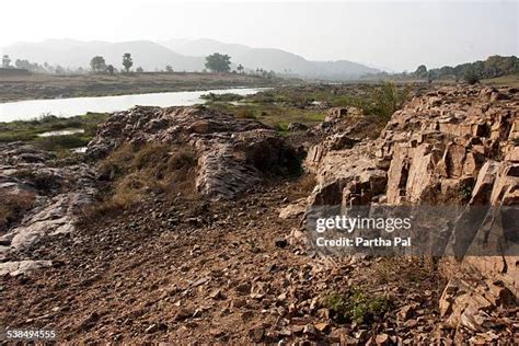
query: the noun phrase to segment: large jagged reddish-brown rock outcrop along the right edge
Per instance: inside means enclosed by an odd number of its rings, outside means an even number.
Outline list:
[[[440,305],[453,327],[481,331],[488,307],[519,295],[518,114],[517,89],[451,86],[413,99],[374,141],[332,131],[305,161],[318,181],[311,205],[461,207],[447,228]]]

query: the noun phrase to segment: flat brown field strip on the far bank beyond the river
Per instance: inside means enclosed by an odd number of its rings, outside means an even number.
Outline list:
[[[258,76],[191,72],[145,72],[115,76],[13,76],[0,77],[0,102],[208,90],[231,86],[270,86],[280,82],[280,79],[267,79]]]

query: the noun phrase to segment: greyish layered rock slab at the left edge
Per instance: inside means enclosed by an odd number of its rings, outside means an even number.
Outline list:
[[[33,267],[28,262],[14,265],[18,262],[10,262],[12,253],[25,251],[45,237],[72,233],[81,210],[96,194],[91,166],[54,165],[53,158],[30,146],[0,146],[0,258],[7,261],[2,268],[10,273]]]

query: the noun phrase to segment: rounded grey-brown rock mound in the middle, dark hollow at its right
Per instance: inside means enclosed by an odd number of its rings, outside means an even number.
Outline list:
[[[197,189],[212,199],[231,199],[261,183],[265,173],[287,171],[296,162],[274,129],[204,107],[135,107],[116,113],[99,129],[86,154],[102,158],[124,142],[150,141],[195,149]]]

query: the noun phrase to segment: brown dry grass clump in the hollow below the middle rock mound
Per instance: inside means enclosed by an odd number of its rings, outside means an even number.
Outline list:
[[[195,153],[186,147],[148,143],[120,146],[100,162],[99,170],[107,181],[107,193],[86,210],[80,222],[95,221],[138,204],[149,195],[163,194],[172,199],[197,198]]]

